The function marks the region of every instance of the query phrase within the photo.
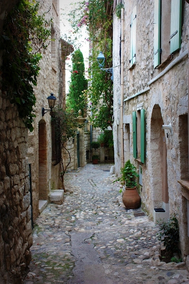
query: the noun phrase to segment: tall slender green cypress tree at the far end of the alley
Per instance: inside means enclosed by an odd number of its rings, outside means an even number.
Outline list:
[[[86,99],[83,91],[86,89],[84,59],[82,52],[78,49],[72,55],[72,73],[68,94],[68,106],[73,108],[75,113],[78,113],[79,109],[82,110],[82,114],[84,113]]]

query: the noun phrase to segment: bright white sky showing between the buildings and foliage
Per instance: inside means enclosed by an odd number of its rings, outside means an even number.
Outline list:
[[[68,13],[71,11],[73,8],[72,3],[77,3],[79,0],[60,0],[60,28],[61,28],[61,36],[63,39],[66,40],[64,37],[64,34],[67,37],[71,37],[71,39],[75,38],[75,34],[72,32],[71,25],[69,21],[67,20],[68,18]],[[88,34],[86,32],[86,28],[83,27],[81,30],[81,36],[79,37],[78,41],[74,41],[76,44],[76,48],[80,48],[81,52],[83,53],[84,57],[84,63],[85,63],[85,69],[88,69],[88,58],[89,58],[89,42],[86,40],[88,38]],[[70,60],[67,60],[66,64],[66,71],[65,71],[65,80],[66,80],[66,90],[65,92],[68,93],[69,90],[69,80],[70,80],[70,74],[72,70],[72,61],[71,61],[71,56],[69,56]]]

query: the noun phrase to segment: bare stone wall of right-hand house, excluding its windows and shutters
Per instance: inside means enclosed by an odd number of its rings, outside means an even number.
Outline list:
[[[130,68],[130,16],[136,5],[136,63]],[[124,14],[124,161],[130,159],[142,172],[138,185],[142,208],[157,220],[155,208],[162,208],[163,219],[176,215],[182,239],[182,255],[189,254],[186,230],[186,204],[178,183],[188,175],[188,23],[189,4],[183,1],[181,49],[154,69],[154,1],[125,2]],[[114,15],[113,67],[120,66],[120,19]],[[164,51],[164,50],[163,50]],[[114,68],[114,146],[116,174],[120,175],[120,67]],[[140,121],[145,110],[145,162],[133,157],[132,112]],[[138,123],[138,122],[137,122]],[[171,124],[172,132],[162,130]],[[140,124],[137,124],[140,150]],[[183,130],[185,129],[185,133]],[[183,154],[184,153],[184,154]],[[184,156],[183,156],[184,155]],[[185,165],[185,166],[184,166]],[[184,169],[185,168],[185,169]],[[164,217],[163,217],[164,216]],[[188,221],[189,222],[189,221]],[[183,237],[184,236],[184,237]]]

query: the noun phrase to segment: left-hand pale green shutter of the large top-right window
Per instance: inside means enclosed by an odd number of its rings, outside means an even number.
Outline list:
[[[154,0],[154,68],[160,64],[161,1]]]

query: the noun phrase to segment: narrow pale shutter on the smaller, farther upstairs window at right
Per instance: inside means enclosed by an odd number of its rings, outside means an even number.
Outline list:
[[[136,6],[130,18],[130,67],[136,62]]]

